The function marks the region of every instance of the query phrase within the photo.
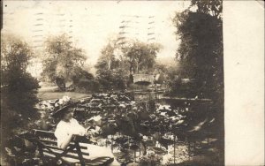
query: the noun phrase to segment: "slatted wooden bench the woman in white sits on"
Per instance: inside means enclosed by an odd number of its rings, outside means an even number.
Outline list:
[[[114,161],[113,158],[107,156],[88,159],[89,154],[84,144],[89,144],[91,142],[89,142],[86,137],[75,136],[69,146],[63,150],[57,147],[57,138],[54,132],[34,130],[34,136],[34,138],[29,138],[27,140],[32,141],[38,147],[42,161],[49,160],[49,162],[54,162],[57,165],[81,166],[105,166]]]

